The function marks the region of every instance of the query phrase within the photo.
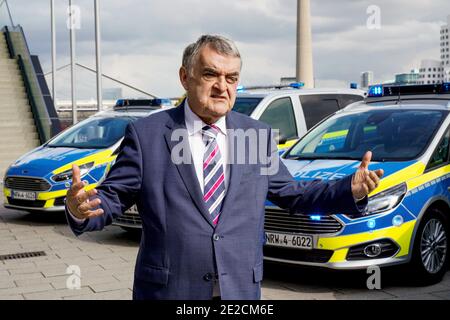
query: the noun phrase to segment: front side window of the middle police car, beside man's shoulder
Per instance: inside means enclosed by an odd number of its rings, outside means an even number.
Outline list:
[[[271,102],[259,118],[280,131],[280,138],[290,140],[297,138],[294,109],[291,98],[281,98]]]

